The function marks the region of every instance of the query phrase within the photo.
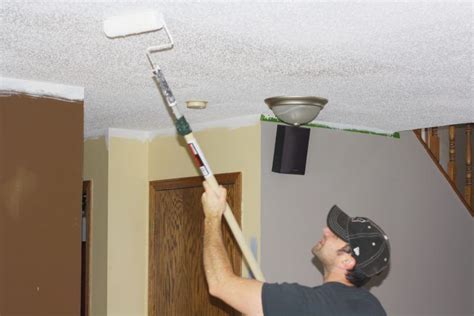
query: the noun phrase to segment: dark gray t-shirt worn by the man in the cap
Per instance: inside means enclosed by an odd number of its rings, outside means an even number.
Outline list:
[[[307,287],[296,283],[264,283],[262,289],[265,316],[386,316],[378,299],[364,288],[328,282]]]

